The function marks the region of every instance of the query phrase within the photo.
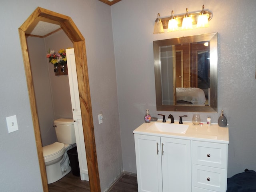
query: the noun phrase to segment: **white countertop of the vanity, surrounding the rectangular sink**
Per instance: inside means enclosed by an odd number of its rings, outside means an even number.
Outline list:
[[[181,133],[171,133],[171,132],[160,132],[150,129],[154,123],[162,123],[162,120],[152,121],[150,123],[143,123],[138,128],[136,128],[133,133],[134,134],[146,134],[152,136],[162,136],[162,137],[172,137],[172,138],[183,138],[183,139],[196,139],[196,140],[207,140],[212,142],[221,142],[221,143],[228,143],[228,125],[225,127],[220,127],[216,123],[212,123],[210,126],[206,123],[203,125],[195,126],[192,122],[183,121],[184,125],[189,125],[188,129],[184,134]],[[170,124],[170,121],[166,121],[166,124]],[[172,124],[178,124],[178,121],[175,121]],[[177,125],[177,126],[178,126]]]

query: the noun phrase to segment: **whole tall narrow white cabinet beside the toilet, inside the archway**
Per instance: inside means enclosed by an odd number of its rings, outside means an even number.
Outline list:
[[[78,92],[74,48],[66,49],[66,57],[67,57],[67,63],[68,63],[68,73],[69,73],[68,80],[69,80],[69,86],[70,86],[70,97],[71,97],[71,103],[72,103],[74,127],[75,127],[75,134],[76,134],[76,146],[77,146],[77,152],[78,152],[80,177],[81,177],[81,180],[89,181],[86,151],[84,146],[84,131],[83,131],[81,107],[80,107],[79,92]]]

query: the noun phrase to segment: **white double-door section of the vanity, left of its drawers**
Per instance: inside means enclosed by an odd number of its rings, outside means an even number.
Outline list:
[[[138,192],[191,192],[191,141],[134,134]]]

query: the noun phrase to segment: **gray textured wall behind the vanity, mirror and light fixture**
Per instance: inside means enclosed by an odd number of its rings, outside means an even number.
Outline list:
[[[199,11],[204,4],[213,13],[209,28],[185,30],[153,35],[158,12],[168,17]],[[218,32],[218,113],[200,113],[204,122],[211,116],[217,122],[221,110],[229,123],[230,144],[228,176],[256,170],[255,116],[256,116],[256,20],[255,0],[122,0],[112,6],[116,75],[118,82],[118,108],[122,140],[124,170],[136,172],[134,137],[132,131],[142,124],[145,110],[156,116],[154,89],[153,41]],[[161,112],[188,115],[192,112]],[[159,117],[158,117],[159,118]]]

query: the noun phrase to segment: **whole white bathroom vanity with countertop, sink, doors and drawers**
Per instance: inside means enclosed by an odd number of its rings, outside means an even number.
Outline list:
[[[226,192],[228,126],[156,121],[134,139],[138,192]]]

